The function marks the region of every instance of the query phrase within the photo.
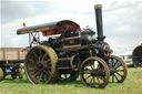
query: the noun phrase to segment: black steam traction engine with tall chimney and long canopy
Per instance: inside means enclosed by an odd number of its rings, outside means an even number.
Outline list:
[[[19,29],[18,34],[29,33],[30,50],[26,56],[26,74],[31,83],[77,80],[80,74],[84,85],[103,88],[108,82],[122,83],[126,76],[124,62],[114,55],[104,42],[102,6],[95,6],[98,39],[89,40],[89,29],[63,20]],[[40,41],[40,34],[49,36]],[[59,36],[51,36],[59,34]],[[34,45],[34,46],[33,46]]]

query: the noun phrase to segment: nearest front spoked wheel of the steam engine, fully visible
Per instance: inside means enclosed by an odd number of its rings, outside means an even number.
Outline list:
[[[109,82],[109,67],[99,58],[87,59],[81,66],[81,80],[83,84],[94,88],[104,88]]]

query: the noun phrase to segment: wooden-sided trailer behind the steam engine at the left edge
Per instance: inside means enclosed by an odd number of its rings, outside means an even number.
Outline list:
[[[23,48],[0,48],[0,80],[6,79],[7,75],[22,79],[21,63],[24,62],[26,53]]]

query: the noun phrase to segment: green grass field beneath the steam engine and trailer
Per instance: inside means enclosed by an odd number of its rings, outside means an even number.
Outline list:
[[[109,83],[104,90],[87,87],[80,79],[74,82],[36,85],[28,83],[26,79],[17,79],[1,81],[0,94],[142,94],[142,67],[129,69],[124,83]]]

